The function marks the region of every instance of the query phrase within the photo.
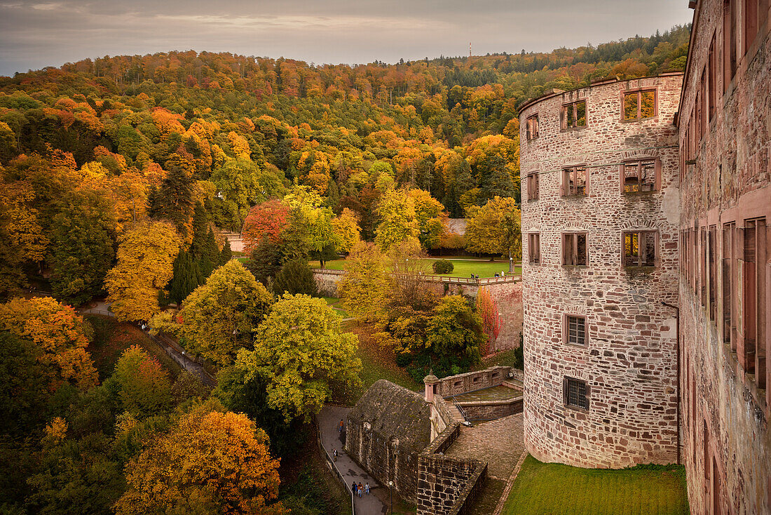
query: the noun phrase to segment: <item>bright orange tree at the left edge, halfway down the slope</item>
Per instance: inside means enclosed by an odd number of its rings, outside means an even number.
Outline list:
[[[0,330],[28,338],[39,347],[49,391],[69,383],[82,391],[98,377],[86,347],[91,327],[72,307],[51,297],[15,298],[0,304]]]

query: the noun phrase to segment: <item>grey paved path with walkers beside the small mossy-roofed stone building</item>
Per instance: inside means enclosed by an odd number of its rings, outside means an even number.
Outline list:
[[[322,411],[316,415],[318,422],[318,431],[322,436],[322,446],[332,456],[332,449],[338,449],[338,459],[335,462],[340,475],[345,480],[345,486],[350,493],[351,483],[361,482],[362,485],[369,482],[370,489],[375,490],[369,495],[363,494],[361,498],[354,500],[356,515],[380,515],[388,513],[385,504],[375,496],[377,490],[383,490],[383,487],[360,467],[353,459],[343,451],[343,436],[338,432],[337,426],[340,420],[345,420],[350,408],[338,408],[337,406],[325,406]],[[387,489],[386,489],[387,490]],[[387,492],[386,492],[387,494]]]

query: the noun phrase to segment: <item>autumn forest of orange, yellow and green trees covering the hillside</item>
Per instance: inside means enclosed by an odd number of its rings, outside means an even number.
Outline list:
[[[0,512],[333,513],[303,449],[322,405],[362,388],[362,360],[309,263],[347,256],[345,316],[407,381],[469,370],[484,300],[431,295],[409,277],[442,271],[415,267],[518,259],[518,108],[682,70],[689,30],[397,64],[189,51],[0,77]],[[447,225],[460,218],[463,237]],[[83,312],[106,303],[109,317]]]

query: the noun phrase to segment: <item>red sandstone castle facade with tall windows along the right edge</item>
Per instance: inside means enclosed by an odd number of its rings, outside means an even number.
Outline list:
[[[768,0],[691,3],[678,115],[682,458],[692,513],[771,513],[771,13]]]

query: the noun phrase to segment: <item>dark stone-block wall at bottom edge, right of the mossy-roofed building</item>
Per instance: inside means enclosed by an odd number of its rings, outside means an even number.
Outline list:
[[[443,456],[460,435],[448,426],[418,457],[418,515],[466,515],[487,479],[487,463]]]

